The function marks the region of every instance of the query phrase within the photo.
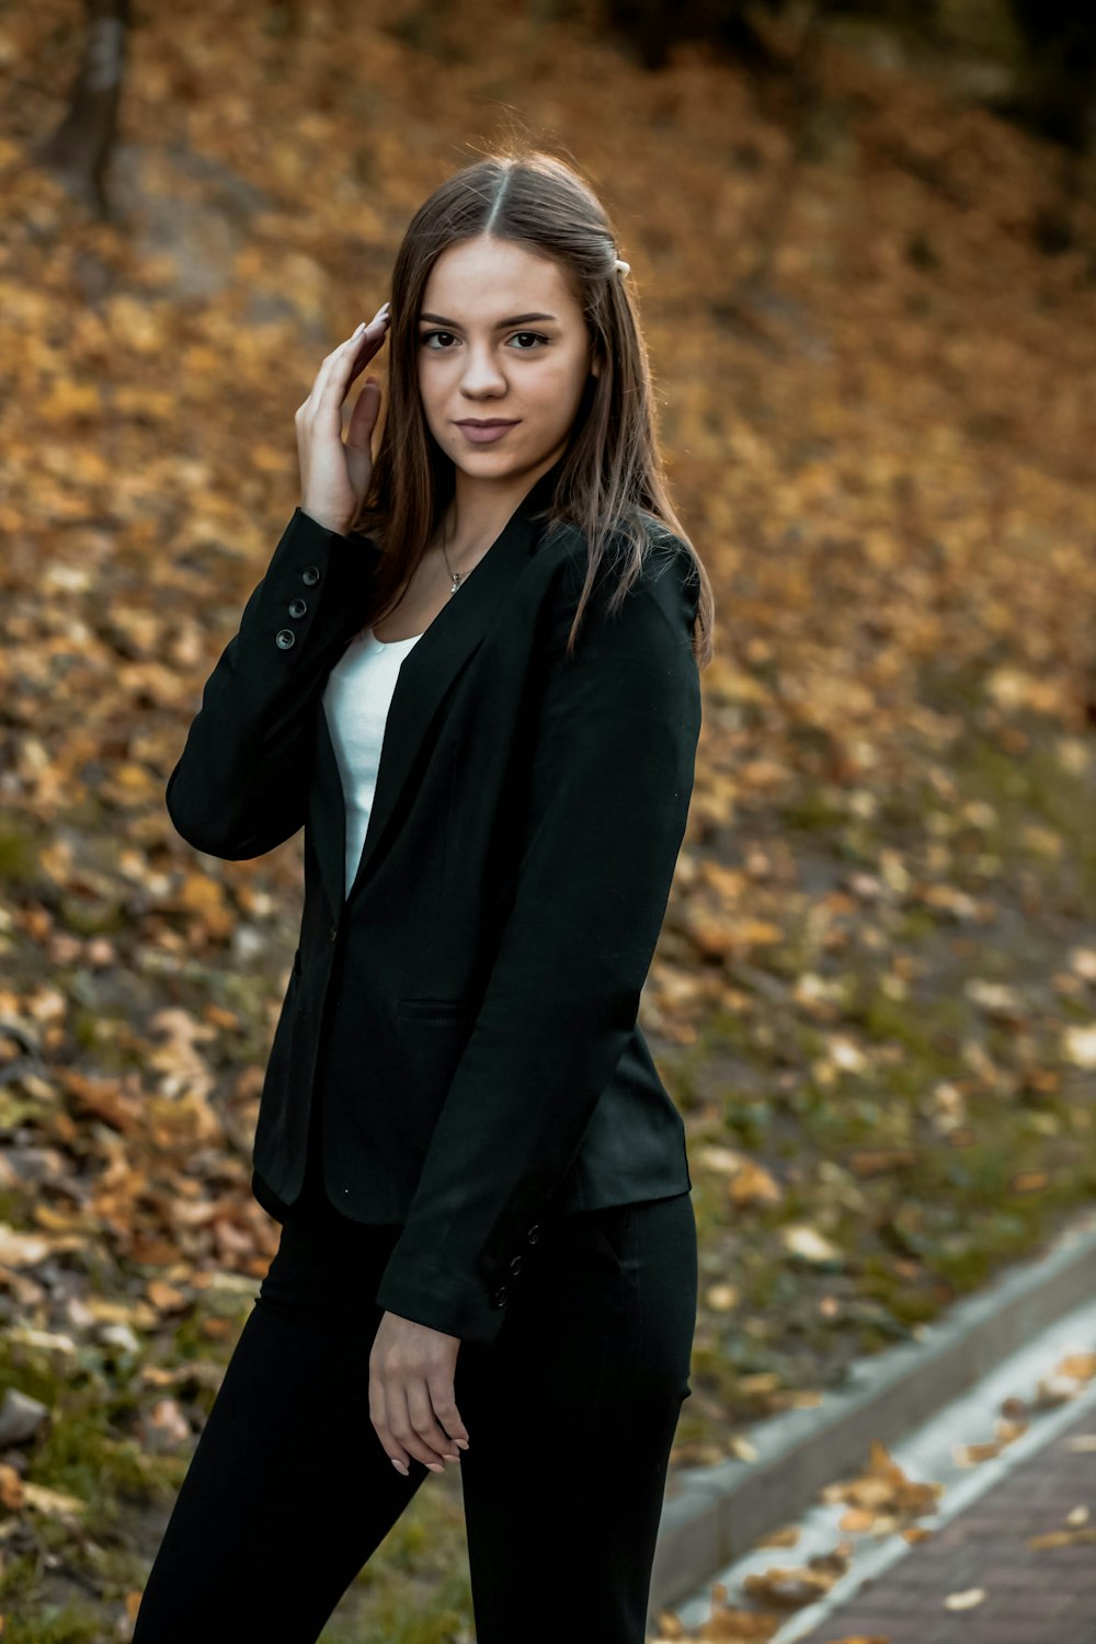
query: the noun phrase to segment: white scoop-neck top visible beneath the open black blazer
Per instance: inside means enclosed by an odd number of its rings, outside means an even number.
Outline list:
[[[378,640],[371,628],[363,628],[338,658],[324,686],[324,717],[338,761],[347,815],[343,898],[358,871],[365,830],[370,825],[385,725],[399,664],[421,638],[421,633],[412,633],[406,640]]]

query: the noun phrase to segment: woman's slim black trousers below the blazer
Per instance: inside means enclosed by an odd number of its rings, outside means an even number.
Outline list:
[[[416,1489],[368,1411],[398,1226],[311,1192],[289,1218],[156,1554],[133,1644],[315,1644]],[[455,1397],[477,1644],[642,1644],[669,1452],[690,1394],[690,1194],[541,1221]]]

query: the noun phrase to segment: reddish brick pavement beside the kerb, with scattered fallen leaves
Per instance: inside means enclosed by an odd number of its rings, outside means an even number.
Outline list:
[[[1096,1412],[1075,1422],[1014,1466],[942,1529],[866,1580],[799,1644],[1096,1644],[1096,1540],[1032,1549],[1030,1535],[1061,1531],[1075,1508],[1088,1508],[1096,1532]],[[984,1588],[973,1609],[950,1611],[945,1598]]]

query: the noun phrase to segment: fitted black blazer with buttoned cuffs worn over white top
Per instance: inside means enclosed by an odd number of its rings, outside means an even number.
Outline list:
[[[638,1026],[700,733],[698,579],[657,552],[564,654],[585,536],[544,531],[559,464],[404,656],[361,860],[322,707],[380,549],[301,508],[210,674],[166,804],[230,861],[304,827],[299,947],[255,1134],[255,1194],[403,1223],[376,1300],[493,1342],[539,1218],[692,1187]]]

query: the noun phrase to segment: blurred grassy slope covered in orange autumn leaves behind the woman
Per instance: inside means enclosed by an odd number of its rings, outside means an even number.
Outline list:
[[[5,1639],[130,1637],[276,1248],[301,840],[200,857],[163,789],[296,406],[495,140],[615,217],[716,595],[641,1014],[702,1238],[674,1470],[1091,1203],[1091,10],[36,0],[0,94]],[[324,1641],[470,1637],[447,1473]]]

